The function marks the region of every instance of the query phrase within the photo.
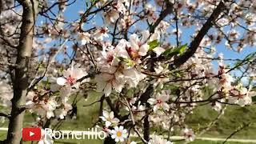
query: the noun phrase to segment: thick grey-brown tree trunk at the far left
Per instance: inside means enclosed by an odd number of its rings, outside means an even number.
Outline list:
[[[18,0],[23,7],[21,34],[15,68],[14,98],[6,143],[19,144],[22,139],[22,123],[25,110],[28,82],[28,68],[32,53],[34,25],[38,14],[37,0]]]

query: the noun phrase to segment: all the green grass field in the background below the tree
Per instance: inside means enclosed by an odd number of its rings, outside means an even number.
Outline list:
[[[92,106],[84,106],[90,104],[91,102],[95,102],[99,100],[101,94],[98,93],[90,93],[88,95],[87,100],[85,98],[81,98],[78,102],[78,116],[76,119],[67,118],[66,121],[62,122],[62,125],[58,128],[58,130],[87,130],[91,126],[94,125],[95,122],[98,121],[98,114],[99,114],[99,102],[95,103]],[[206,134],[203,134],[202,137],[210,137],[210,138],[226,138],[234,130],[237,130],[239,126],[248,122],[256,122],[256,106],[228,106],[226,109],[226,113],[220,120],[214,125]],[[199,128],[204,128],[207,126],[209,122],[211,122],[217,116],[217,112],[211,110],[210,106],[202,106],[196,108],[194,110],[194,114],[190,114],[186,121],[191,128],[195,132],[198,131]],[[33,122],[33,118],[31,114],[26,114],[25,126],[31,126]],[[4,123],[2,127],[6,127],[7,123]],[[3,140],[6,138],[6,132],[0,132],[0,139]],[[256,139],[256,125],[249,126],[244,130],[239,131],[235,134],[232,138],[244,138],[244,139]],[[24,143],[31,143],[31,142],[24,142]],[[34,142],[35,143],[35,142]],[[58,140],[54,143],[63,143],[63,144],[100,144],[102,140]],[[182,142],[175,142],[175,143],[182,143]],[[217,144],[222,142],[211,142],[211,141],[202,141],[196,140],[194,142],[190,142],[193,144]],[[239,143],[239,142],[226,142],[230,144]]]

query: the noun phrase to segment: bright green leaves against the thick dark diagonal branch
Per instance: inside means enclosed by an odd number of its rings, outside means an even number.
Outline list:
[[[187,47],[187,44],[185,45],[182,45],[182,46],[179,46],[179,47],[176,47],[174,49],[167,49],[165,52],[163,52],[163,56],[166,58],[166,59],[170,59],[172,58],[174,55],[177,55],[177,54],[183,54],[186,50],[186,47]]]

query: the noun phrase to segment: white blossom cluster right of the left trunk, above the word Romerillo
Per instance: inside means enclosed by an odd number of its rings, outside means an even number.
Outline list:
[[[70,95],[78,90],[78,80],[85,76],[86,72],[72,65],[70,69],[63,70],[62,74],[63,77],[57,78],[50,86],[38,85],[35,91],[28,92],[26,108],[31,113],[38,114],[39,118],[63,119],[72,110]],[[86,81],[85,79],[82,82]]]

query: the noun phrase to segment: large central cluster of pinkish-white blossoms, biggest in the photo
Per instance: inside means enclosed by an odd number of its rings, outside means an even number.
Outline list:
[[[150,50],[157,55],[164,51],[161,47],[150,49],[148,43],[158,39],[158,33],[150,35],[150,32],[145,30],[142,31],[142,38],[138,38],[137,34],[131,34],[129,42],[121,39],[117,46],[104,47],[101,57],[98,58],[98,69],[101,74],[95,78],[98,91],[104,91],[104,94],[109,96],[113,89],[120,93],[124,86],[136,87],[138,82],[146,78],[146,75],[142,74],[142,69],[145,69],[142,63],[146,54]]]

